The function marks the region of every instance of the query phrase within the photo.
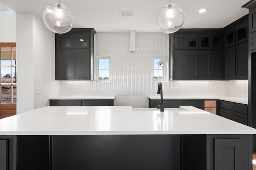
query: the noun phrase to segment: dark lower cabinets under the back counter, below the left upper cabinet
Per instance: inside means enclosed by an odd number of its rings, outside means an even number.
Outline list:
[[[114,99],[50,100],[50,106],[114,106]]]

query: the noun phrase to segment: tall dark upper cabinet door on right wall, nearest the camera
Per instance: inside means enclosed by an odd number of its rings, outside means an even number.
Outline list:
[[[248,42],[236,45],[236,78],[248,79]]]

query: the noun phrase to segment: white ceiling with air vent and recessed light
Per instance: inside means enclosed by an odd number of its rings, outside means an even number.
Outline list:
[[[249,0],[171,0],[185,14],[182,28],[223,28],[248,14],[241,8]],[[42,18],[43,10],[58,0],[0,0],[15,12],[32,12]],[[94,28],[97,32],[160,32],[156,14],[168,0],[60,0],[74,15],[74,27]],[[207,8],[204,14],[200,8]],[[134,10],[134,16],[121,17],[119,10]]]

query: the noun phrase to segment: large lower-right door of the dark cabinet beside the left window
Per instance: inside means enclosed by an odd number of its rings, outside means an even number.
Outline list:
[[[91,62],[89,50],[74,50],[74,79],[91,80]]]

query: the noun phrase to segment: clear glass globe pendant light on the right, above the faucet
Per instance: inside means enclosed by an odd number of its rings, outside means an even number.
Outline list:
[[[182,9],[176,4],[165,4],[156,15],[157,27],[164,33],[174,33],[178,31],[185,20]]]

